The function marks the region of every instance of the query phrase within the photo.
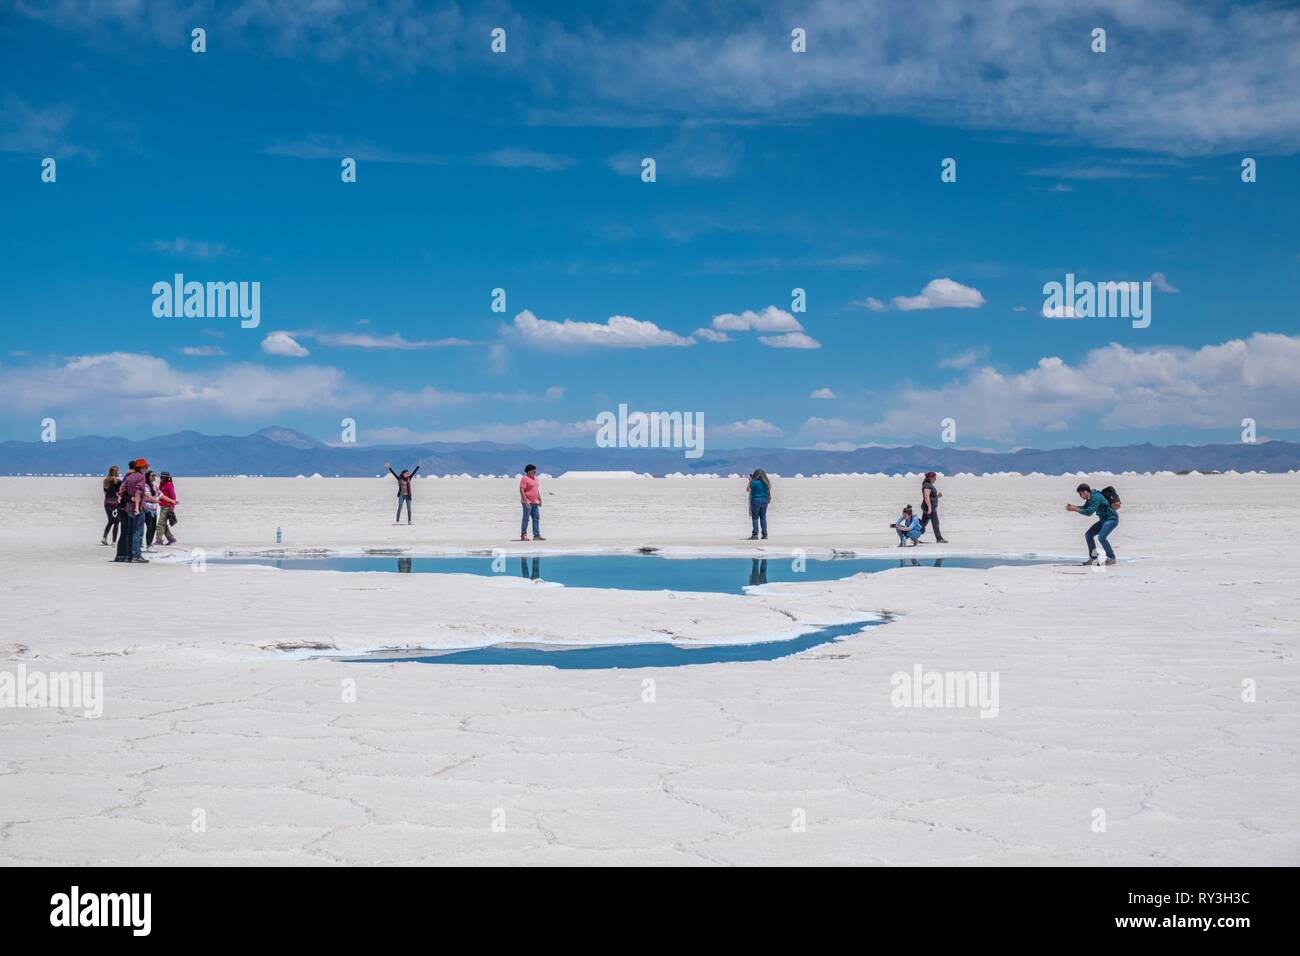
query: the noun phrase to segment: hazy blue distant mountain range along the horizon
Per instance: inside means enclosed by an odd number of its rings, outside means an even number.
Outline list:
[[[325,445],[291,428],[270,427],[254,434],[209,436],[177,432],[131,441],[84,436],[57,442],[0,442],[0,475],[100,475],[108,466],[125,466],[144,457],[156,468],[176,475],[324,475],[365,477],[420,464],[421,475],[516,475],[526,463],[543,473],[566,471],[636,471],[671,473],[745,473],[764,468],[775,475],[867,472],[901,475],[939,471],[970,472],[1154,472],[1266,471],[1300,468],[1300,444],[1268,441],[1254,445],[1123,445],[1119,447],[1020,449],[994,453],[958,447],[859,447],[852,451],[810,449],[725,449],[701,458],[680,450],[558,447],[532,449],[490,441],[428,442],[422,445]]]

